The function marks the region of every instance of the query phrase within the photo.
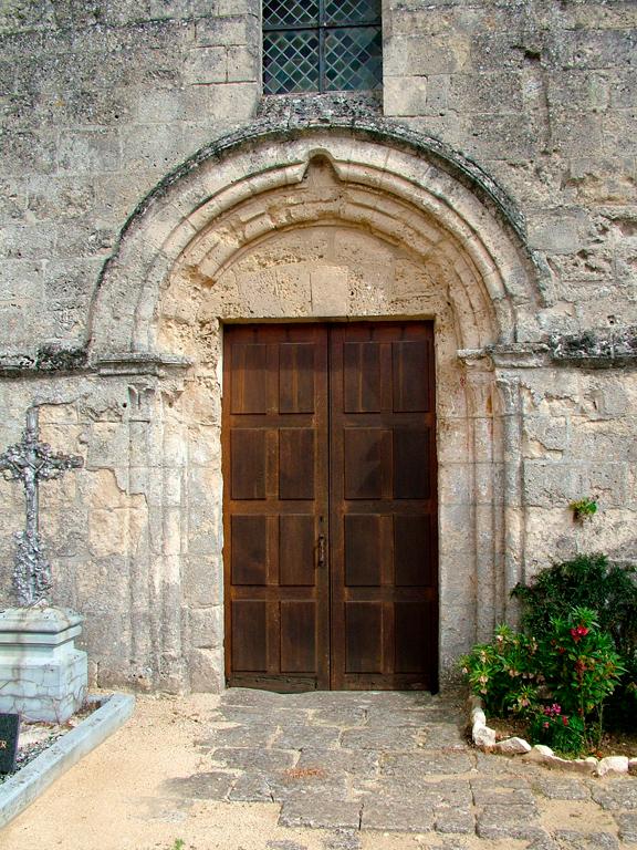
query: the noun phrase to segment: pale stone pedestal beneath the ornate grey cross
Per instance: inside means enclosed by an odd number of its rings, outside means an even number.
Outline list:
[[[38,604],[0,611],[0,712],[64,723],[86,697],[86,653],[74,639],[84,618]]]

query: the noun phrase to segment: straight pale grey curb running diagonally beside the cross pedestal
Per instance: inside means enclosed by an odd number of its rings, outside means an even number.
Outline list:
[[[135,697],[113,694],[85,721],[0,785],[0,829],[133,714]]]

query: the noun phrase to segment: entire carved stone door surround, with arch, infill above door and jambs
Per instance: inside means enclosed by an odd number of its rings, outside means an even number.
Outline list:
[[[396,139],[307,128],[192,163],[127,227],[93,305],[93,362],[191,364],[174,406],[157,395],[150,449],[163,470],[149,502],[159,681],[222,682],[229,321],[435,321],[442,670],[505,614],[522,559],[516,413],[487,352],[537,339],[542,298],[504,210],[452,165]]]

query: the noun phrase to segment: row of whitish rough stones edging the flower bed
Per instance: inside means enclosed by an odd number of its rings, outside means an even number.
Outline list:
[[[626,756],[606,756],[606,758],[561,758],[551,747],[543,744],[531,746],[523,738],[505,738],[495,740],[495,730],[487,725],[484,707],[479,696],[469,696],[469,714],[471,717],[471,740],[484,753],[497,753],[507,756],[520,755],[524,761],[533,761],[545,767],[566,770],[574,774],[606,776],[607,774],[637,774],[637,758]]]

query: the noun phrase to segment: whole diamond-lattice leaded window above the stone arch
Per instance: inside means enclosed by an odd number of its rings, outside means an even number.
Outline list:
[[[263,0],[263,91],[379,89],[382,39],[380,0]]]

